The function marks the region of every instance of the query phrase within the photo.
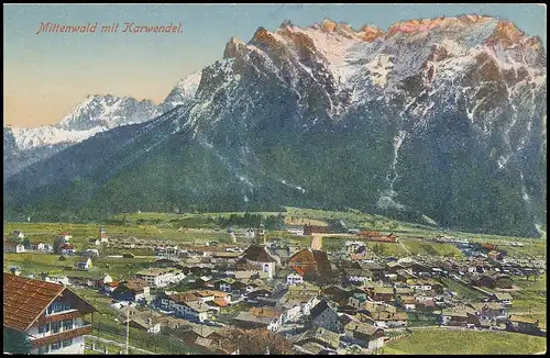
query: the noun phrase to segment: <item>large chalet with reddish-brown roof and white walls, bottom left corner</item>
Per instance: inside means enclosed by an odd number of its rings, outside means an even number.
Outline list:
[[[3,327],[25,333],[32,354],[84,354],[96,309],[67,287],[3,273]]]

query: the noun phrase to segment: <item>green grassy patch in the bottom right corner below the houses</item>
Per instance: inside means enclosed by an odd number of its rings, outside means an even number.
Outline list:
[[[388,343],[384,354],[521,355],[544,350],[544,337],[509,332],[433,328],[417,329],[405,338]]]

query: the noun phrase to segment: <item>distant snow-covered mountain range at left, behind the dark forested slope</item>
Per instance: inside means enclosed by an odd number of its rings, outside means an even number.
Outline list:
[[[194,97],[199,80],[200,74],[180,80],[158,105],[150,100],[138,101],[131,97],[95,94],[88,96],[54,125],[4,127],[4,179],[97,133],[146,122],[184,104]]]

